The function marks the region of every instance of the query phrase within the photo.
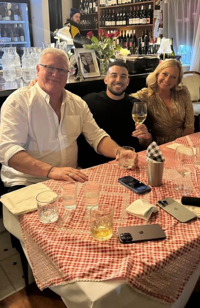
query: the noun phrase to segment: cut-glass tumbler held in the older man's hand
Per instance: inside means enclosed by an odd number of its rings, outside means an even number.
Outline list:
[[[119,148],[119,167],[124,169],[130,169],[133,167],[134,162],[134,148],[131,147],[122,147]]]

